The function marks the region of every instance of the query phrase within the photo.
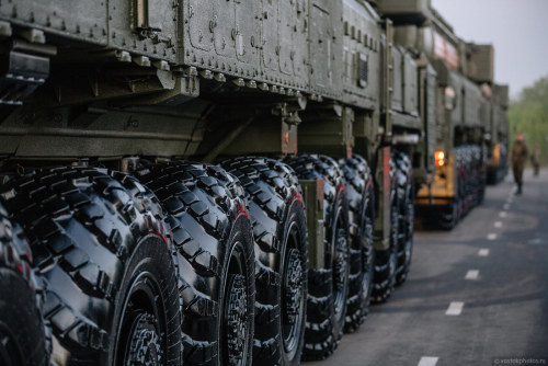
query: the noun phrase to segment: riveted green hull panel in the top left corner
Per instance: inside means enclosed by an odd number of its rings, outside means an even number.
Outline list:
[[[0,20],[102,46],[107,42],[105,1],[0,1]]]

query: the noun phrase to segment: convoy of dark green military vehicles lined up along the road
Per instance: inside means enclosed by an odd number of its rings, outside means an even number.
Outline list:
[[[5,0],[0,42],[2,365],[326,358],[506,171],[429,0]]]

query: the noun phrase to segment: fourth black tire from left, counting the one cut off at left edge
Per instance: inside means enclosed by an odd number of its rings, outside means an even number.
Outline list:
[[[255,240],[253,364],[298,365],[308,288],[306,213],[298,179],[266,158],[222,162],[243,184]]]

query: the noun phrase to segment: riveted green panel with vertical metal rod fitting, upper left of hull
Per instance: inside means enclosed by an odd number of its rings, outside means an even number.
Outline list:
[[[110,0],[109,46],[153,61],[175,61],[178,2]]]

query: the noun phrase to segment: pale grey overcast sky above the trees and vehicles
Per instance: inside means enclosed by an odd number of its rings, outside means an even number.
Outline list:
[[[517,96],[548,76],[548,0],[432,0],[465,41],[494,45],[494,78]]]

